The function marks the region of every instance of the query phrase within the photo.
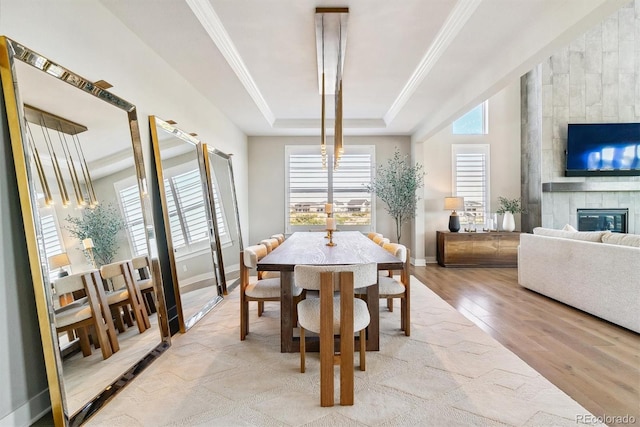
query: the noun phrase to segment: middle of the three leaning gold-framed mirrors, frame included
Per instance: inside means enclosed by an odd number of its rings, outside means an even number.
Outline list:
[[[180,331],[186,332],[223,298],[218,236],[224,232],[224,221],[221,210],[209,203],[202,143],[155,116],[149,117],[149,126],[156,175],[162,183],[160,221],[168,246],[175,317]]]

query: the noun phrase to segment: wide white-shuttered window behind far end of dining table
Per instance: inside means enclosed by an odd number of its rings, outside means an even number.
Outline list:
[[[328,152],[332,152],[329,148]],[[287,146],[286,231],[322,229],[326,224],[325,203],[334,204],[338,225],[352,230],[369,230],[373,224],[373,200],[365,184],[371,182],[375,147],[349,146],[338,170],[322,169],[320,147]],[[328,156],[327,164],[333,159]]]

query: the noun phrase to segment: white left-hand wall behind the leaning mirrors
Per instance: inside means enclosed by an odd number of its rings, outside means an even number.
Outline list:
[[[233,153],[241,223],[248,229],[247,141],[245,135],[218,108],[204,99],[186,80],[117,20],[96,0],[2,0],[0,34],[6,35],[97,81],[107,80],[113,93],[138,108],[143,154],[149,174],[151,156],[148,115],[173,119],[178,126],[221,151]],[[43,94],[46,95],[46,94]],[[3,141],[0,160],[13,170]],[[8,158],[7,158],[8,156]],[[46,409],[46,381],[38,347],[33,292],[24,283],[26,257],[20,236],[6,238],[4,230],[18,231],[14,210],[15,185],[2,174],[0,225],[0,425],[27,425]],[[20,256],[19,256],[20,255]],[[24,258],[24,259],[23,259]],[[18,276],[16,276],[18,275]],[[18,277],[18,278],[16,278]],[[11,330],[5,330],[12,325]],[[44,394],[43,394],[44,392]],[[47,399],[43,398],[46,396]],[[44,403],[43,403],[44,402]]]

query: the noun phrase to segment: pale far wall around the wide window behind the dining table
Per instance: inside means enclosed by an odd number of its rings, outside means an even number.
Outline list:
[[[331,143],[328,138],[327,144]],[[284,232],[286,145],[317,145],[320,152],[320,137],[249,137],[251,244]],[[401,155],[410,155],[411,140],[408,136],[349,136],[344,138],[345,151],[349,145],[375,145],[376,165],[380,165],[393,157],[396,147]],[[375,230],[390,238],[396,235],[395,222],[380,200],[376,202]],[[411,224],[407,223],[402,229],[404,244],[408,244],[410,234]]]

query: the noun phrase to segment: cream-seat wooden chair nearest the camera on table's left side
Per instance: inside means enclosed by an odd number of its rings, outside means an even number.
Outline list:
[[[262,316],[266,301],[280,301],[280,279],[261,279],[250,276],[251,270],[256,269],[258,261],[267,256],[267,247],[263,244],[249,246],[240,252],[240,339],[244,341],[249,334],[249,302],[258,303],[258,316]],[[294,288],[294,303],[303,299],[305,293],[300,288]]]

